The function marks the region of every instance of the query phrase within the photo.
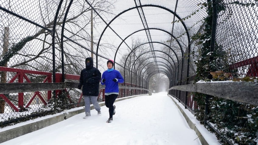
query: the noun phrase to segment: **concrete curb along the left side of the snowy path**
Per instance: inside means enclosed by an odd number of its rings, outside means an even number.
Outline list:
[[[145,94],[145,95],[147,95],[147,94]],[[141,96],[141,95],[117,98],[115,102],[122,101],[122,100],[129,99],[129,98],[138,97],[138,96]],[[99,105],[104,106],[105,102],[99,102]],[[93,105],[91,105],[90,109],[94,109]],[[33,131],[42,129],[42,128],[47,127],[47,126],[51,126],[55,123],[61,122],[65,119],[68,119],[68,118],[70,118],[72,116],[75,116],[77,114],[80,114],[82,112],[85,112],[84,109],[79,109],[79,110],[75,110],[75,111],[68,111],[68,112],[64,112],[63,114],[51,117],[51,118],[47,118],[47,119],[40,120],[40,121],[37,121],[37,122],[34,122],[34,123],[30,123],[30,124],[26,124],[26,125],[23,125],[23,126],[13,128],[13,129],[2,131],[2,132],[0,132],[0,143],[3,143],[5,141],[11,140],[13,138],[22,136],[22,135],[27,134],[27,133],[31,133]]]

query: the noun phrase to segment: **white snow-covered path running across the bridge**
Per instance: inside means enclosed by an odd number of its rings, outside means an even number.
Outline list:
[[[98,116],[94,109],[91,110],[91,116],[87,119],[83,119],[85,113],[80,113],[0,144],[201,145],[197,139],[198,136],[194,130],[190,129],[176,104],[167,96],[167,92],[138,96],[115,102],[114,105],[116,105],[116,114],[113,116],[112,123],[106,123],[109,118],[108,109],[102,106],[101,116]],[[180,106],[184,108],[182,104]],[[196,126],[201,128],[200,132],[210,145],[220,144],[214,134],[200,125],[187,109],[184,110]],[[0,129],[0,132],[38,120],[8,126]]]

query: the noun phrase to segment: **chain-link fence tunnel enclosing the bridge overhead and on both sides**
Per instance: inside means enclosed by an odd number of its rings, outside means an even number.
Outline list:
[[[209,2],[217,2],[213,5],[217,14]],[[145,89],[155,73],[166,74],[169,87],[194,83],[200,77],[198,66],[206,60],[210,65],[204,69],[209,71],[228,72],[231,77],[257,77],[257,3],[1,1],[1,83],[78,82],[74,77],[85,67],[86,57],[93,57],[100,72],[106,70],[106,60],[115,60],[131,87]],[[204,47],[209,49],[202,50]],[[130,60],[126,61],[128,54]],[[209,55],[212,58],[204,57]],[[198,109],[191,92],[171,90],[169,94],[192,112]],[[65,95],[63,101],[72,107],[84,104],[76,88],[0,94],[1,122],[44,114],[55,95]]]

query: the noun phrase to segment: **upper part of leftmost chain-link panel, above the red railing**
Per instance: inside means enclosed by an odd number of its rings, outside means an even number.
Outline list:
[[[46,29],[52,27],[49,19],[52,21],[54,15],[51,11],[47,12],[47,8],[56,9],[54,5],[48,4],[46,1],[37,2],[7,2],[2,1],[0,4],[8,12],[37,23]],[[52,48],[51,48],[51,32],[40,28],[24,19],[19,19],[12,14],[1,11],[1,31],[4,37],[1,41],[1,66],[16,67],[29,70],[51,71],[52,70]],[[4,31],[7,30],[7,31]],[[7,48],[3,48],[4,45]],[[9,51],[7,51],[9,49]],[[7,52],[7,53],[6,53]],[[7,63],[7,64],[6,64]]]

